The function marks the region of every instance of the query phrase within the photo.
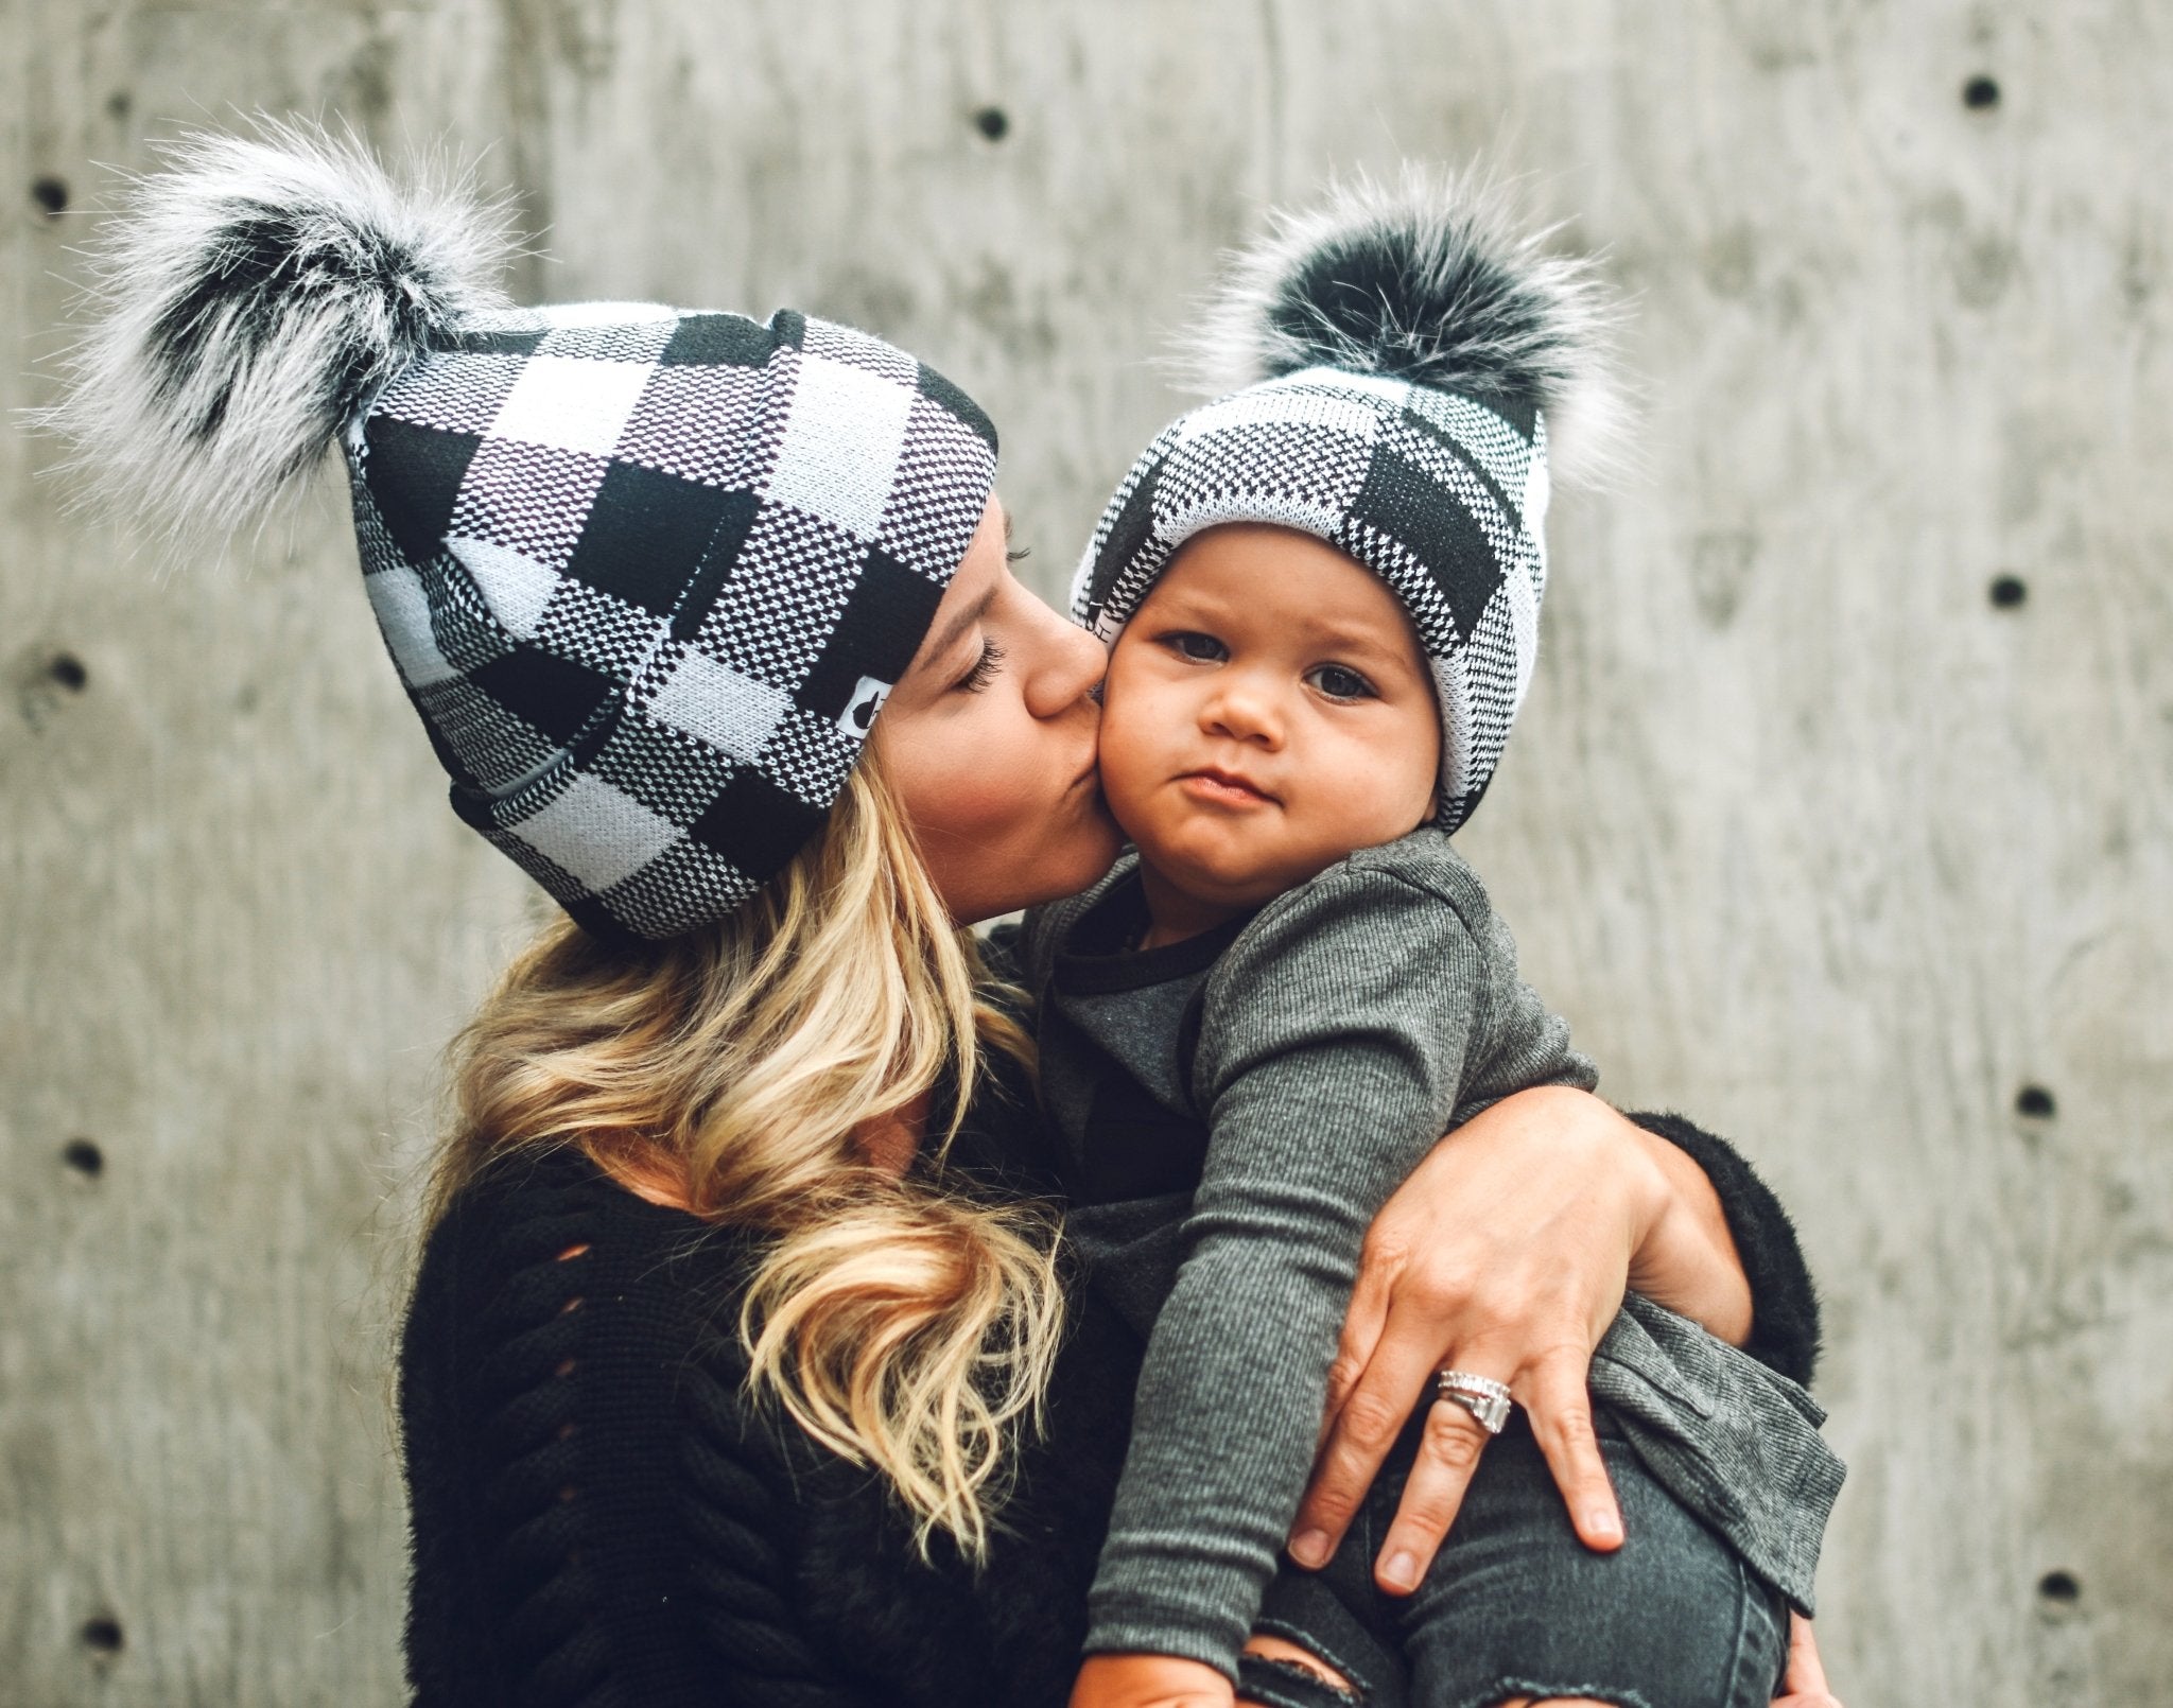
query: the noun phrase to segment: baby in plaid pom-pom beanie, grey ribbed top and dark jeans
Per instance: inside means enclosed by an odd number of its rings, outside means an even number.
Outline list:
[[[1230,1680],[1263,1597],[1332,1647],[1326,1582],[1415,1704],[1764,1701],[1841,1467],[1801,1389],[1645,1299],[1593,1362],[1619,1554],[1512,1428],[1415,1595],[1373,1588],[1367,1515],[1278,1578],[1373,1213],[1486,1104],[1595,1082],[1449,843],[1530,680],[1549,424],[1595,359],[1584,276],[1415,178],[1286,222],[1221,319],[1263,378],[1156,437],[1073,593],[1136,854],[1023,932],[1073,1241],[1147,1341],[1086,1652]],[[1369,1512],[1408,1462],[1410,1432]],[[1073,1701],[1141,1699],[1119,1673]]]

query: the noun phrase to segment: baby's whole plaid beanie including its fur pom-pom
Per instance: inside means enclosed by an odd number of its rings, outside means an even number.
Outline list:
[[[1071,613],[1115,641],[1178,548],[1228,522],[1328,541],[1410,613],[1441,700],[1434,824],[1478,806],[1538,656],[1549,450],[1610,428],[1610,311],[1495,193],[1406,167],[1280,215],[1197,339],[1239,382],[1180,415],[1110,498]],[[1558,461],[1558,459],[1556,459]]]

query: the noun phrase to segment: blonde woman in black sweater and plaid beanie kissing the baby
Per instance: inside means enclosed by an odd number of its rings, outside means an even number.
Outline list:
[[[1100,645],[1010,576],[947,380],[793,313],[513,311],[493,241],[356,150],[193,143],[54,415],[183,526],[337,437],[454,808],[567,913],[459,1047],[402,1352],[417,1699],[1060,1701],[1136,1345],[1067,1286],[960,928],[1117,852]],[[1778,1206],[1656,1126],[1530,1093],[1384,1210],[1299,1556],[1473,1352],[1619,1545],[1582,1369],[1625,1278],[1806,1373]],[[1432,1554],[1478,1445],[1430,1415],[1384,1552]],[[1339,1699],[1282,1636],[1247,1691]]]

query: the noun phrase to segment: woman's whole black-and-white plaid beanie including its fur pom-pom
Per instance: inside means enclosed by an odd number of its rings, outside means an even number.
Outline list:
[[[50,419],[230,524],[335,437],[452,806],[580,924],[730,915],[821,828],[965,556],[995,428],[847,326],[513,309],[500,222],[356,146],[211,137],[139,187]]]

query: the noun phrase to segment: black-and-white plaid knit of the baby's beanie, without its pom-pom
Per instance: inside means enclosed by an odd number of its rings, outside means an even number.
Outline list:
[[[1102,513],[1071,615],[1117,639],[1184,541],[1271,522],[1373,569],[1410,611],[1441,698],[1436,824],[1478,806],[1538,654],[1547,430],[1378,374],[1306,367],[1171,422]]]

